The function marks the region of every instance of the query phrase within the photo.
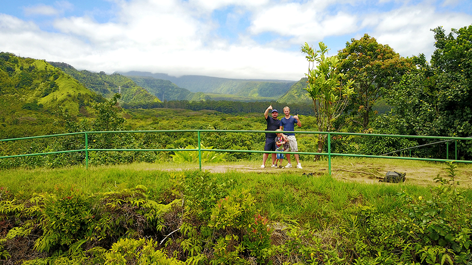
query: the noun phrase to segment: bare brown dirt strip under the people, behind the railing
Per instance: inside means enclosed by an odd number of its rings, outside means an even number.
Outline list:
[[[180,170],[180,169],[168,169]],[[305,174],[309,177],[316,177],[324,175],[328,172],[327,165],[324,164],[304,164],[303,169],[298,168],[271,168],[266,167],[261,169],[259,165],[254,164],[236,164],[236,165],[209,165],[203,166],[202,170],[212,173],[225,173],[228,171],[237,172],[256,172],[259,174]],[[348,165],[332,165],[331,175],[341,181],[346,182],[361,182],[370,184],[383,184],[379,182],[382,180],[387,171],[396,171],[406,173],[405,184],[414,185],[436,185],[434,178],[440,174],[443,178],[447,178],[445,164],[422,164],[421,168],[417,166],[408,165],[394,165],[385,161],[385,163],[369,163],[369,162],[354,162]],[[461,187],[472,188],[472,167],[469,165],[459,164],[456,170],[456,180],[460,182]]]

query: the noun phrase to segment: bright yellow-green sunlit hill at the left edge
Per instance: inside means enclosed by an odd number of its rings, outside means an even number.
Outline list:
[[[44,60],[0,53],[0,138],[54,133],[56,111],[87,116],[103,100]]]

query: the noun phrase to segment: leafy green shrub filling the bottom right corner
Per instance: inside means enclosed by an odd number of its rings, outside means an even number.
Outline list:
[[[407,203],[399,222],[401,236],[414,244],[415,254],[427,264],[472,260],[472,204],[461,195],[456,164],[447,165],[448,178],[435,178],[440,185],[432,189],[431,199],[401,194]]]

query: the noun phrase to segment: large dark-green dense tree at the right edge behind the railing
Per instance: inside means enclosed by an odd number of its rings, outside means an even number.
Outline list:
[[[405,75],[389,93],[388,103],[412,134],[472,135],[472,26],[442,27],[435,33],[436,50],[428,64],[414,57],[417,70]]]

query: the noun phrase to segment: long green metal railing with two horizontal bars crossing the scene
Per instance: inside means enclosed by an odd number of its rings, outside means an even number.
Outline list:
[[[103,134],[103,133],[163,133],[163,132],[197,132],[198,146],[195,149],[100,149],[100,148],[89,148],[89,135],[90,134]],[[470,160],[458,160],[457,159],[457,141],[466,140],[472,141],[469,137],[445,137],[445,136],[418,136],[418,135],[396,135],[396,134],[370,134],[370,133],[353,133],[353,132],[303,132],[298,131],[294,133],[302,134],[327,134],[327,153],[316,153],[316,152],[280,152],[280,151],[263,151],[263,150],[230,150],[230,149],[203,149],[201,146],[201,133],[202,132],[240,132],[240,133],[266,133],[271,131],[242,131],[242,130],[158,130],[158,131],[103,131],[103,132],[73,132],[73,133],[62,133],[42,136],[31,136],[22,138],[11,138],[11,139],[0,139],[0,142],[6,141],[17,141],[25,139],[45,138],[45,137],[59,137],[67,135],[78,135],[84,134],[85,137],[85,148],[77,150],[63,150],[56,152],[45,152],[45,153],[34,153],[34,154],[22,154],[12,156],[1,156],[0,159],[4,158],[15,158],[15,157],[28,157],[28,156],[42,156],[52,154],[64,154],[73,152],[85,152],[85,164],[86,168],[89,168],[89,152],[90,151],[198,151],[200,170],[202,169],[202,151],[215,151],[215,152],[239,152],[239,153],[283,153],[283,154],[299,154],[299,155],[320,155],[327,156],[328,158],[328,173],[331,175],[331,158],[333,156],[342,157],[364,157],[364,158],[382,158],[382,159],[407,159],[407,160],[425,160],[425,161],[451,161],[449,159],[449,141],[455,141],[455,159],[456,162],[472,163]],[[332,135],[358,135],[358,136],[380,136],[380,137],[400,137],[400,138],[421,138],[421,139],[441,139],[446,141],[446,159],[428,159],[428,158],[413,158],[413,157],[392,157],[392,156],[373,156],[373,155],[357,155],[357,154],[340,154],[331,153],[331,136]],[[439,143],[439,142],[438,142]],[[397,151],[396,151],[397,152]]]

